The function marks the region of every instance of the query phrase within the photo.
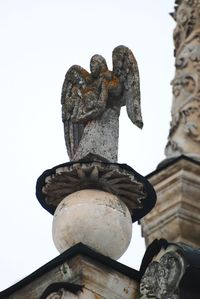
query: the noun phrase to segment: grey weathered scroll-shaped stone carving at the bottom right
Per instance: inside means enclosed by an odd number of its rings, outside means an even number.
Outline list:
[[[185,261],[177,252],[167,252],[152,261],[140,283],[140,299],[178,299],[179,283],[185,271]]]

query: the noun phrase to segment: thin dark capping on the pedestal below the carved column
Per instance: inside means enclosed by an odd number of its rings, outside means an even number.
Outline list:
[[[166,169],[167,167],[175,164],[176,162],[178,162],[180,160],[187,160],[187,161],[192,162],[194,164],[200,165],[199,161],[195,160],[194,158],[185,156],[185,155],[181,155],[181,156],[176,157],[176,158],[165,159],[165,160],[163,160],[162,162],[160,162],[158,164],[157,168],[154,171],[150,172],[149,174],[147,174],[145,176],[146,179],[151,178],[153,175],[159,173],[160,171]]]

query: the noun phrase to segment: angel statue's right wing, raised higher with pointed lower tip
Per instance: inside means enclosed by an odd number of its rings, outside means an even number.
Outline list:
[[[113,50],[113,74],[122,84],[122,105],[126,105],[130,120],[142,128],[139,71],[136,59],[129,48],[118,46]]]

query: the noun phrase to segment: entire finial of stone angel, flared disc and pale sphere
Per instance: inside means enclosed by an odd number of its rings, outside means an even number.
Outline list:
[[[45,171],[37,197],[54,214],[53,240],[59,252],[82,242],[118,259],[132,237],[132,221],[155,204],[149,182],[117,164],[119,114],[126,105],[142,128],[137,62],[124,46],[113,50],[113,71],[94,55],[88,73],[74,65],[62,88],[62,119],[70,162]]]

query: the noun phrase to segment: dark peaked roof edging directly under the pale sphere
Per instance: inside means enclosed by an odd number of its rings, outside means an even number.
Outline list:
[[[44,275],[45,273],[47,273],[54,267],[65,262],[66,259],[73,258],[74,256],[76,256],[78,254],[82,254],[82,255],[88,256],[92,259],[95,259],[96,261],[98,261],[98,262],[100,262],[100,263],[102,263],[102,264],[104,264],[104,265],[130,277],[130,278],[133,278],[134,280],[136,280],[138,282],[141,279],[141,275],[140,275],[139,271],[132,269],[128,266],[125,266],[125,265],[123,265],[107,256],[104,256],[98,252],[95,252],[94,250],[92,250],[91,248],[89,248],[88,246],[86,246],[82,243],[78,243],[78,244],[74,245],[73,247],[69,248],[68,250],[66,250],[65,252],[63,252],[62,254],[60,254],[59,256],[57,256],[56,258],[54,258],[53,260],[51,260],[50,262],[48,262],[47,264],[45,264],[44,266],[40,267],[39,269],[37,269],[36,271],[31,273],[24,279],[20,280],[16,284],[14,284],[11,287],[0,292],[0,299],[4,299],[5,296],[9,296],[12,293],[20,290],[21,288],[23,288],[26,285],[28,285],[29,283],[31,283],[33,280],[37,279],[39,276]]]

